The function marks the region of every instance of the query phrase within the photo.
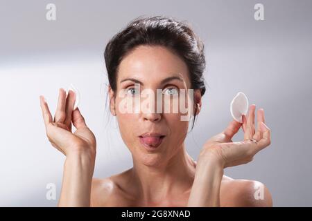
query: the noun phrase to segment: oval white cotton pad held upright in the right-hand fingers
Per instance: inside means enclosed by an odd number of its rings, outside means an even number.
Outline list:
[[[246,115],[248,112],[248,98],[243,92],[237,93],[237,95],[232,99],[231,102],[231,114],[236,122],[243,123],[242,115]]]

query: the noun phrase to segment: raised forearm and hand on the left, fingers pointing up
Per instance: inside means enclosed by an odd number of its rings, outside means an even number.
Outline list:
[[[52,146],[66,156],[58,206],[90,206],[96,138],[79,109],[73,110],[75,99],[72,90],[66,95],[61,88],[58,107],[52,119],[46,100],[40,96],[46,135]],[[74,133],[71,132],[71,124],[76,127]]]

